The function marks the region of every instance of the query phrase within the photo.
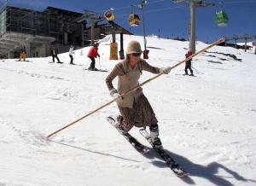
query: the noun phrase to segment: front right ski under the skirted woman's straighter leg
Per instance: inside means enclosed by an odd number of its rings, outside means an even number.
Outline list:
[[[140,133],[142,134],[143,137],[145,137],[145,139],[150,143],[150,145],[152,146],[152,148],[154,148],[154,150],[160,154],[160,157],[165,160],[166,165],[169,166],[172,171],[177,175],[177,177],[187,177],[189,176],[189,173],[187,171],[184,171],[175,160],[172,159],[172,157],[166,153],[166,151],[163,148],[156,148],[154,147],[151,137],[148,134],[148,131],[146,131],[145,129],[140,129]]]

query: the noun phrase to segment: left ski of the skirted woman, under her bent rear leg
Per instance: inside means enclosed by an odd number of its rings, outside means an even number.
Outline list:
[[[125,137],[125,139],[131,143],[132,147],[135,148],[137,150],[137,152],[141,153],[141,154],[147,154],[150,150],[148,148],[146,148],[142,143],[138,142],[137,139],[135,137],[132,137],[130,133],[125,132],[120,130],[117,127],[117,121],[115,119],[113,119],[113,117],[108,116],[108,122],[113,125],[113,127],[119,131],[119,133]]]

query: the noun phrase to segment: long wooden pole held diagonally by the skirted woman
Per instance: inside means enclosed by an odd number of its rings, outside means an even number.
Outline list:
[[[190,56],[189,56],[188,58],[186,58],[185,60],[178,62],[176,65],[172,66],[171,69],[173,69],[173,68],[175,68],[175,67],[177,67],[177,66],[183,64],[183,63],[186,62],[186,61],[189,61],[190,59],[192,59],[193,57],[195,57],[195,55],[199,55],[199,54],[201,54],[202,52],[206,51],[207,49],[211,49],[213,46],[215,46],[215,45],[217,45],[217,44],[220,44],[220,43],[223,43],[224,41],[225,41],[224,38],[218,39],[218,41],[214,42],[213,44],[207,46],[207,47],[204,48],[204,49],[201,49],[200,51],[196,52],[194,55],[190,55]],[[155,78],[160,77],[160,76],[163,75],[163,74],[164,74],[164,73],[162,72],[162,73],[159,73],[159,74],[155,75],[153,78],[149,78],[148,80],[144,81],[142,84],[138,84],[136,87],[132,88],[131,90],[126,91],[126,92],[123,93],[121,96],[125,96],[125,95],[127,95],[127,94],[130,94],[132,91],[137,90],[137,88],[143,86],[144,84],[147,84],[148,82],[152,81],[152,80],[155,79]],[[75,123],[79,122],[80,120],[82,120],[82,119],[84,119],[84,118],[90,116],[92,113],[96,113],[97,111],[101,110],[102,108],[107,107],[107,106],[110,105],[112,102],[114,102],[114,100],[112,100],[112,101],[110,101],[110,102],[107,102],[107,103],[105,103],[104,105],[102,105],[100,108],[96,108],[95,110],[91,111],[90,113],[87,113],[87,114],[84,115],[83,117],[81,117],[81,118],[79,118],[79,119],[76,119],[76,120],[73,121],[72,123],[70,123],[70,124],[68,124],[68,125],[66,125],[66,126],[64,126],[64,127],[62,127],[61,129],[59,129],[58,131],[55,131],[55,132],[49,134],[49,135],[47,136],[47,138],[52,137],[52,136],[55,135],[56,133],[58,133],[58,132],[60,132],[60,131],[62,131],[62,130],[64,130],[64,129],[66,129],[67,127],[69,127],[69,126],[71,126],[71,125],[74,125]]]

